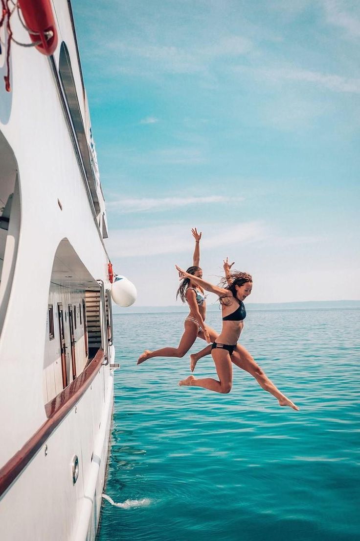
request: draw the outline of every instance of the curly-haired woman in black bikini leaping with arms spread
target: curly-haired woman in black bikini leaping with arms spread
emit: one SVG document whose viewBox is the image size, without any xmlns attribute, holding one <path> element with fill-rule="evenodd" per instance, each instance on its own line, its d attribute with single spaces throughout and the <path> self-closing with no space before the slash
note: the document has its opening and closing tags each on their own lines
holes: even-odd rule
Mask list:
<svg viewBox="0 0 360 541">
<path fill-rule="evenodd" d="M 179 272 L 180 279 L 189 278 L 186 271 L 177 265 L 175 267 Z M 233 362 L 236 366 L 252 374 L 265 391 L 277 398 L 280 406 L 289 406 L 297 411 L 299 408 L 275 387 L 246 349 L 237 344 L 243 328 L 243 320 L 246 318 L 243 300 L 252 292 L 252 277 L 247 273 L 230 273 L 227 269 L 226 278 L 223 280 L 227 283 L 226 287 L 213 286 L 199 276 L 192 276 L 193 283 L 218 295 L 221 302 L 222 329 L 220 335 L 214 340 L 211 351 L 219 380 L 213 378 L 196 379 L 193 375 L 189 375 L 188 378 L 179 381 L 179 385 L 203 387 L 218 393 L 229 393 L 233 381 Z"/>
</svg>

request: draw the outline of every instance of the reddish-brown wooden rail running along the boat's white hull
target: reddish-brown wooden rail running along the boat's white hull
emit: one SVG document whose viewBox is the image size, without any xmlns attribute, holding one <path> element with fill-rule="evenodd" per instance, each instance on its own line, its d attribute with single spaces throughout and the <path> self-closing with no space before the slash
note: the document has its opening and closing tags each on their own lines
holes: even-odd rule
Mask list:
<svg viewBox="0 0 360 541">
<path fill-rule="evenodd" d="M 47 438 L 61 423 L 65 415 L 82 397 L 96 377 L 104 360 L 104 350 L 99 349 L 89 366 L 64 391 L 45 405 L 48 419 L 25 445 L 0 469 L 0 497 L 21 474 Z"/>
</svg>

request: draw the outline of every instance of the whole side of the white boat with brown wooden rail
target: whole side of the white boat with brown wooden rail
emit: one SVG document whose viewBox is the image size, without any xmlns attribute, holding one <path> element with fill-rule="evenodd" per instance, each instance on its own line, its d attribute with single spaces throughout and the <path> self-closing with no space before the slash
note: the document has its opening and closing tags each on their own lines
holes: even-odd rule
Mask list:
<svg viewBox="0 0 360 541">
<path fill-rule="evenodd" d="M 80 530 L 94 538 L 111 424 L 105 203 L 71 10 L 63 0 L 53 6 L 54 55 L 12 44 L 11 95 L 0 88 L 0 182 L 12 198 L 10 218 L 6 206 L 0 216 L 2 539 L 25 539 L 30 531 L 34 539 L 63 541 L 80 539 Z M 12 27 L 19 41 L 29 41 L 15 16 Z M 65 61 L 70 71 L 61 69 Z"/>
</svg>

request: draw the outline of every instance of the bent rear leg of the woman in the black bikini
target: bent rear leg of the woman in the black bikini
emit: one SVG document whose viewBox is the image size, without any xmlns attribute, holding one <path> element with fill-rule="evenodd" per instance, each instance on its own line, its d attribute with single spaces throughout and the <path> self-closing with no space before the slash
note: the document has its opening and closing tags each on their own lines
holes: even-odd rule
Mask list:
<svg viewBox="0 0 360 541">
<path fill-rule="evenodd" d="M 223 349 L 212 350 L 212 356 L 215 362 L 216 373 L 219 380 L 213 378 L 196 379 L 193 375 L 179 381 L 179 385 L 188 385 L 194 387 L 203 387 L 216 393 L 229 393 L 233 382 L 233 366 L 228 351 Z"/>
</svg>

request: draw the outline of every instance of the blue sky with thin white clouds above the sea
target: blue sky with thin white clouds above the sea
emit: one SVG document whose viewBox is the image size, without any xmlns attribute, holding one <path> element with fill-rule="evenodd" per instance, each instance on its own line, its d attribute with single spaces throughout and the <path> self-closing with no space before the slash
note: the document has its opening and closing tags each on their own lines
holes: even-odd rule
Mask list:
<svg viewBox="0 0 360 541">
<path fill-rule="evenodd" d="M 73 2 L 108 252 L 140 306 L 174 263 L 249 301 L 360 299 L 360 4 Z M 215 300 L 215 299 L 213 299 Z"/>
</svg>

